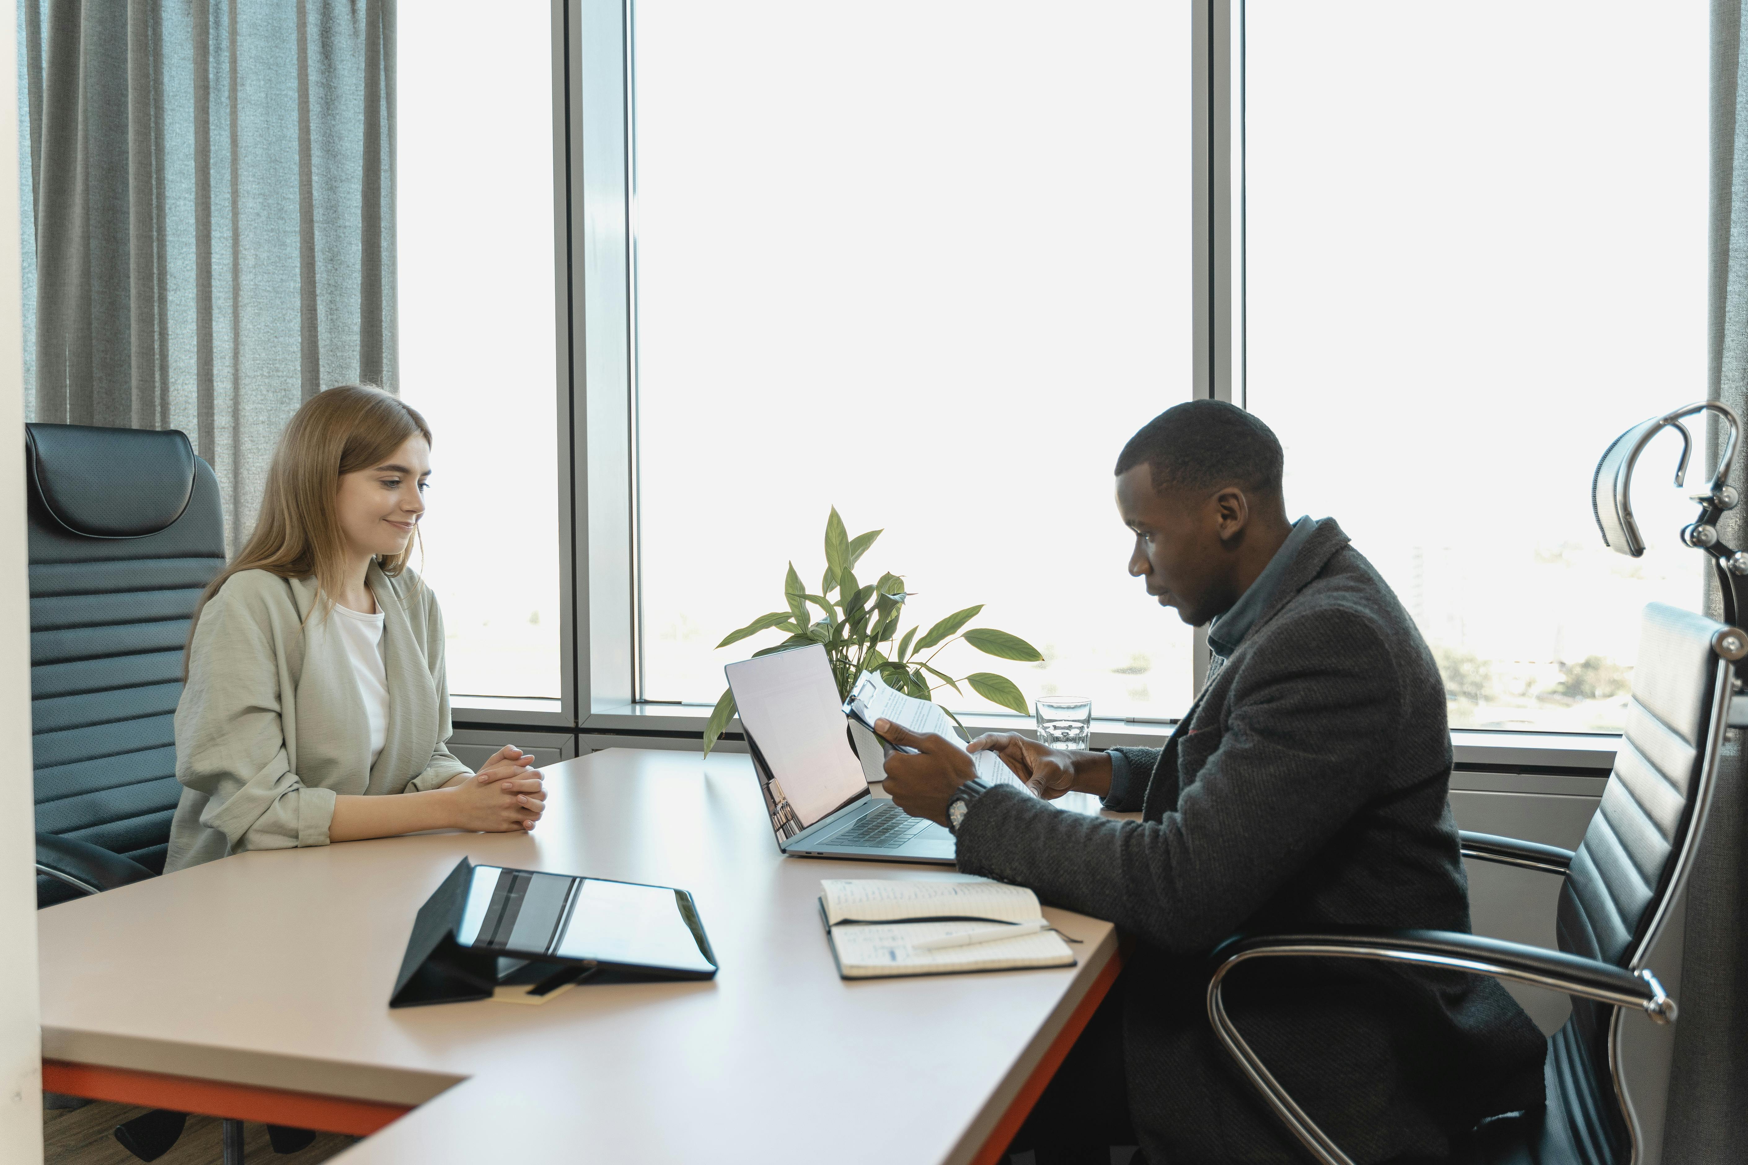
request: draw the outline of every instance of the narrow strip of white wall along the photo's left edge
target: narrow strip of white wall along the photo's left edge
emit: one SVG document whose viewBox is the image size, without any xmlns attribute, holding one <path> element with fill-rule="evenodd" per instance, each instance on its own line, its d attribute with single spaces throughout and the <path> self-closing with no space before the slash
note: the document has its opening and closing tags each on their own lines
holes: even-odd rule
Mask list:
<svg viewBox="0 0 1748 1165">
<path fill-rule="evenodd" d="M 19 335 L 16 7 L 0 2 L 0 1162 L 42 1160 L 30 587 Z"/>
</svg>

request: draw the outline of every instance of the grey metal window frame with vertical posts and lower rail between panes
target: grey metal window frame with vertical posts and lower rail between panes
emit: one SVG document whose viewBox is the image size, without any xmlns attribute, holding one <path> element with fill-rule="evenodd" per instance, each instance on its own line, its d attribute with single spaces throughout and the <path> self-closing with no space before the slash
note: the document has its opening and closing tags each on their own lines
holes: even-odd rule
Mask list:
<svg viewBox="0 0 1748 1165">
<path fill-rule="evenodd" d="M 460 697 L 454 721 L 565 728 L 582 744 L 697 748 L 710 707 L 640 693 L 636 496 L 636 0 L 552 0 L 554 304 L 563 541 L 559 700 Z M 1243 0 L 1192 0 L 1192 386 L 1245 405 Z M 1185 665 L 1208 669 L 1197 629 Z M 1030 718 L 965 716 L 1014 730 Z M 741 751 L 731 723 L 718 748 Z M 1159 746 L 1169 723 L 1096 720 L 1094 748 Z M 1606 774 L 1619 735 L 1453 732 L 1460 769 Z"/>
</svg>

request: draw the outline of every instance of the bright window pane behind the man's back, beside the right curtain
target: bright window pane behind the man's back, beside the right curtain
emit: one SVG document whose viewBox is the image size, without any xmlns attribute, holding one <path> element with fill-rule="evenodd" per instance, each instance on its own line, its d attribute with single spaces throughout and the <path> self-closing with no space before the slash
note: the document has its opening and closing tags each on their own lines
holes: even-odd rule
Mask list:
<svg viewBox="0 0 1748 1165">
<path fill-rule="evenodd" d="M 1643 559 L 1589 487 L 1706 396 L 1706 5 L 1250 0 L 1243 77 L 1245 386 L 1290 512 L 1390 580 L 1453 727 L 1619 730 L 1640 606 L 1703 583 L 1678 440 Z"/>
</svg>

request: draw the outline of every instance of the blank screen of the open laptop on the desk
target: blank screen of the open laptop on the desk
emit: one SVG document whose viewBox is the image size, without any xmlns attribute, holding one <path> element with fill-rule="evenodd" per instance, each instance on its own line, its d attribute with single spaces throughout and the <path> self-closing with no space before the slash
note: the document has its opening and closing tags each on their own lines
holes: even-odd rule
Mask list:
<svg viewBox="0 0 1748 1165">
<path fill-rule="evenodd" d="M 823 646 L 774 651 L 724 671 L 741 725 L 769 769 L 759 781 L 778 838 L 795 837 L 867 793 Z"/>
</svg>

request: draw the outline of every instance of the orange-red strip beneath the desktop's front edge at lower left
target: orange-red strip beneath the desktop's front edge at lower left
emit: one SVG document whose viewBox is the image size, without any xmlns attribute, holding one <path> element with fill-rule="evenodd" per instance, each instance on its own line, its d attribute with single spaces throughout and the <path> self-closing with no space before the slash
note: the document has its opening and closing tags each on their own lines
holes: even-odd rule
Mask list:
<svg viewBox="0 0 1748 1165">
<path fill-rule="evenodd" d="M 42 1086 L 68 1097 L 199 1113 L 201 1116 L 222 1116 L 227 1121 L 343 1132 L 353 1137 L 369 1137 L 378 1128 L 413 1111 L 413 1106 L 407 1104 L 322 1097 L 309 1092 L 255 1088 L 217 1079 L 135 1072 L 124 1067 L 98 1067 L 66 1060 L 42 1062 Z"/>
</svg>

